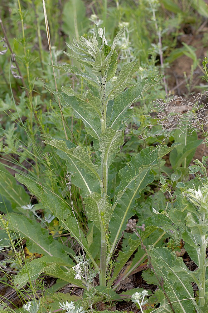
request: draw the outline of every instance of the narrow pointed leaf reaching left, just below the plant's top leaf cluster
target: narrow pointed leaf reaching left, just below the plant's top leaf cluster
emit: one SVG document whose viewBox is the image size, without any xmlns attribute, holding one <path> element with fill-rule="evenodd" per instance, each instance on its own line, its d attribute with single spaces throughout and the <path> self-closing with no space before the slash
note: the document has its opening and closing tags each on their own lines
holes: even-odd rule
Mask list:
<svg viewBox="0 0 208 313">
<path fill-rule="evenodd" d="M 52 66 L 52 65 L 51 65 Z M 94 75 L 91 71 L 91 69 L 87 66 L 85 66 L 85 72 L 81 72 L 76 66 L 73 66 L 71 64 L 65 64 L 65 65 L 53 65 L 55 69 L 61 69 L 63 71 L 66 71 L 68 73 L 75 74 L 76 76 L 82 77 L 84 80 L 89 82 L 94 87 L 99 88 L 99 80 L 97 79 L 97 76 Z"/>
</svg>

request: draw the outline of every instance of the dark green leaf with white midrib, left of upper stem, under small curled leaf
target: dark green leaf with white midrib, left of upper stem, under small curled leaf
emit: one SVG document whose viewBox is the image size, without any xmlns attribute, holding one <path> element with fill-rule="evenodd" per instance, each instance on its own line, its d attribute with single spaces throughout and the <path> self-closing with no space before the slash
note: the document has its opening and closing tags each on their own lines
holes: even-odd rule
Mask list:
<svg viewBox="0 0 208 313">
<path fill-rule="evenodd" d="M 93 138 L 100 140 L 101 127 L 97 127 L 95 124 L 96 118 L 92 114 L 92 106 L 85 102 L 84 106 L 81 106 L 77 97 L 69 97 L 66 94 L 61 96 L 62 106 L 69 107 L 72 110 L 72 114 L 81 119 L 85 125 L 85 129 L 89 135 Z M 96 111 L 94 110 L 97 115 Z"/>
</svg>

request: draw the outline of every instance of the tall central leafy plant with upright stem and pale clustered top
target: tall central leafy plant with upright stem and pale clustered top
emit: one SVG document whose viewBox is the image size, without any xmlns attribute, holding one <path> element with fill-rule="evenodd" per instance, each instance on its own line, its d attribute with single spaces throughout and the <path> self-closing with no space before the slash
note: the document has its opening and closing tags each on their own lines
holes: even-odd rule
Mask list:
<svg viewBox="0 0 208 313">
<path fill-rule="evenodd" d="M 82 261 L 80 258 L 78 260 L 72 249 L 62 246 L 57 240 L 52 241 L 45 231 L 38 230 L 37 223 L 11 213 L 10 223 L 14 228 L 18 225 L 19 233 L 24 233 L 24 237 L 28 238 L 30 249 L 43 254 L 42 258 L 26 264 L 18 273 L 14 280 L 17 288 L 25 285 L 30 275 L 37 279 L 41 273 L 47 273 L 66 283 L 87 289 L 89 294 L 93 283 L 86 280 L 87 273 L 84 273 L 85 262 L 88 261 L 89 266 L 94 269 L 93 273 L 97 272 L 99 275 L 100 285 L 95 287 L 95 292 L 99 296 L 110 298 L 116 295 L 115 290 L 119 285 L 115 284 L 115 280 L 140 245 L 138 238 L 130 238 L 130 248 L 121 251 L 116 261 L 112 259 L 126 230 L 128 219 L 135 215 L 136 200 L 141 197 L 141 191 L 154 180 L 152 167 L 177 144 L 143 149 L 141 153 L 132 156 L 131 162 L 119 173 L 116 172 L 113 163 L 116 162 L 116 154 L 124 143 L 126 122 L 133 115 L 130 107 L 146 90 L 163 79 L 163 75 L 153 76 L 129 87 L 132 77 L 139 70 L 138 63 L 132 61 L 126 63 L 117 74 L 117 79 L 112 81 L 117 70 L 118 54 L 115 48 L 124 32 L 123 27 L 109 46 L 105 29 L 98 29 L 95 25 L 90 37 L 81 37 L 80 41 L 73 38 L 73 43 L 67 44 L 73 53 L 63 51 L 70 59 L 79 62 L 82 70 L 71 64 L 54 66 L 55 69 L 73 73 L 87 82 L 87 90 L 83 94 L 77 94 L 70 86 L 63 86 L 62 92 L 55 92 L 49 86 L 46 88 L 60 99 L 63 107 L 71 110 L 76 119 L 82 120 L 86 133 L 92 137 L 93 147 L 77 146 L 68 140 L 54 139 L 48 135 L 50 140 L 44 142 L 57 148 L 58 156 L 66 161 L 66 183 L 70 180 L 67 187 L 70 195 L 71 184 L 80 189 L 88 218 L 88 229 L 83 229 L 82 220 L 76 216 L 72 201 L 67 203 L 65 199 L 46 190 L 41 183 L 17 174 L 17 180 L 26 185 L 31 194 L 41 200 L 42 206 L 59 220 L 59 225 L 76 239 L 83 254 Z M 93 158 L 86 152 L 88 150 L 94 150 Z M 116 177 L 119 181 L 117 187 Z M 18 223 L 19 219 L 21 223 Z M 162 229 L 172 234 L 173 228 L 166 224 Z M 37 238 L 41 231 L 42 236 Z M 146 237 L 148 236 L 149 233 L 146 232 Z M 131 272 L 125 274 L 131 275 Z"/>
</svg>

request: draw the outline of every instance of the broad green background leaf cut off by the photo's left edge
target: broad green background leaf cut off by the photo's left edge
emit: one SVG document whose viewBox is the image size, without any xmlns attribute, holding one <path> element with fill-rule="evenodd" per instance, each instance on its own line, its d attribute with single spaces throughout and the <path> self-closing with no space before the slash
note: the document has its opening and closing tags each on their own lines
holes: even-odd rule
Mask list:
<svg viewBox="0 0 208 313">
<path fill-rule="evenodd" d="M 16 179 L 0 164 L 0 188 L 1 195 L 12 205 L 12 208 L 21 207 L 30 201 L 30 197 L 24 188 L 17 184 Z M 3 203 L 1 204 L 3 207 Z"/>
</svg>

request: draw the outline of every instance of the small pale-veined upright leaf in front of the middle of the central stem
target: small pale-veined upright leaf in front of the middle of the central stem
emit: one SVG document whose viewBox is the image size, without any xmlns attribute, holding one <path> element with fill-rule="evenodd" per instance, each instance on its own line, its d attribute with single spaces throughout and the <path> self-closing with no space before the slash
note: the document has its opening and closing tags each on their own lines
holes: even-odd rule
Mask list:
<svg viewBox="0 0 208 313">
<path fill-rule="evenodd" d="M 107 169 L 113 163 L 116 154 L 120 151 L 120 146 L 123 145 L 124 132 L 114 131 L 112 128 L 107 128 L 101 134 L 99 151 L 102 153 L 102 160 L 107 165 Z"/>
</svg>

